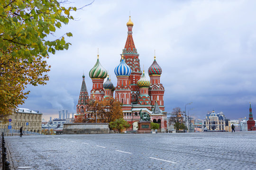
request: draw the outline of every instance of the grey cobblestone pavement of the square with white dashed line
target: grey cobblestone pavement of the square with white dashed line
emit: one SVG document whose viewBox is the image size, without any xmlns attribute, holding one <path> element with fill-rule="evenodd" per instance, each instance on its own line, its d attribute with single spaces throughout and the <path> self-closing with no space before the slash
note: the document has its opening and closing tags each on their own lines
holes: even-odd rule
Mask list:
<svg viewBox="0 0 256 170">
<path fill-rule="evenodd" d="M 256 170 L 256 132 L 6 136 L 6 141 L 12 170 Z"/>
</svg>

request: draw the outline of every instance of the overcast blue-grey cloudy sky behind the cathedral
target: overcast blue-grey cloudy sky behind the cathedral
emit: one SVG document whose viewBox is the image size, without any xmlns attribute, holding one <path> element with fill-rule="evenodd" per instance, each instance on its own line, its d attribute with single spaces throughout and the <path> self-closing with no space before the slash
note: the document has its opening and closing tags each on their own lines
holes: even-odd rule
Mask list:
<svg viewBox="0 0 256 170">
<path fill-rule="evenodd" d="M 91 3 L 71 3 L 77 8 Z M 256 105 L 256 1 L 255 0 L 95 0 L 73 12 L 74 21 L 58 30 L 72 46 L 47 60 L 47 85 L 31 87 L 22 108 L 39 110 L 43 118 L 58 118 L 58 111 L 75 113 L 82 74 L 90 93 L 89 71 L 97 60 L 109 70 L 111 81 L 127 39 L 129 11 L 140 66 L 154 60 L 163 73 L 165 110 L 174 107 L 204 119 L 207 111 L 222 111 L 229 119 L 248 117 Z"/>
</svg>

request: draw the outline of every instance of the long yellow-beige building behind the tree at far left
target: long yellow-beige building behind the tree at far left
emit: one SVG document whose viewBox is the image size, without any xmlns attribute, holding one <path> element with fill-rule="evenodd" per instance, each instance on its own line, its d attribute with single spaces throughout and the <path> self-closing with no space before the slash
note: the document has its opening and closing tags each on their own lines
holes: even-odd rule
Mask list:
<svg viewBox="0 0 256 170">
<path fill-rule="evenodd" d="M 11 122 L 0 124 L 0 128 L 19 130 L 23 126 L 24 131 L 41 133 L 42 113 L 26 108 L 18 108 L 8 116 Z"/>
</svg>

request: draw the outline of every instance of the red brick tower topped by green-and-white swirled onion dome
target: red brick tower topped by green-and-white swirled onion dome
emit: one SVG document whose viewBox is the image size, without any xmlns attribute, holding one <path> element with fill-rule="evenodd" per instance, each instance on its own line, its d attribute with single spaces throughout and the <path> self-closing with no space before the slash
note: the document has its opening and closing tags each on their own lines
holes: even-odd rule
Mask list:
<svg viewBox="0 0 256 170">
<path fill-rule="evenodd" d="M 92 81 L 91 98 L 101 101 L 105 95 L 103 89 L 104 79 L 107 77 L 108 72 L 101 66 L 99 61 L 99 54 L 96 64 L 91 68 L 89 76 Z"/>
</svg>

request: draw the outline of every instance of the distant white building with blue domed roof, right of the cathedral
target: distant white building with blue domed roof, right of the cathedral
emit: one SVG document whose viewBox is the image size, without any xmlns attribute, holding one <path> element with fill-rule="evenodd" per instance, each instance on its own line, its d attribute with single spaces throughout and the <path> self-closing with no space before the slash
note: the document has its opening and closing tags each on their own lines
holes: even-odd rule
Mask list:
<svg viewBox="0 0 256 170">
<path fill-rule="evenodd" d="M 224 114 L 222 112 L 216 114 L 214 110 L 212 110 L 211 113 L 207 113 L 204 127 L 206 127 L 208 131 L 225 131 Z"/>
</svg>

